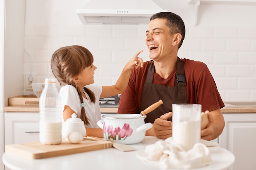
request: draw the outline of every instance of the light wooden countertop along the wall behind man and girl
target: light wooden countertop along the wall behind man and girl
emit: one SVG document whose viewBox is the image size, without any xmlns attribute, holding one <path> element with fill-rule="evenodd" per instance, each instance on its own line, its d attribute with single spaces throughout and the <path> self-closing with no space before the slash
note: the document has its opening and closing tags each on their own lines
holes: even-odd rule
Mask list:
<svg viewBox="0 0 256 170">
<path fill-rule="evenodd" d="M 243 105 L 225 104 L 220 110 L 222 113 L 256 113 L 255 102 L 243 102 Z M 253 105 L 252 105 L 253 104 Z M 117 107 L 101 107 L 101 113 L 117 113 Z M 39 112 L 38 106 L 7 106 L 4 107 L 4 112 Z"/>
</svg>

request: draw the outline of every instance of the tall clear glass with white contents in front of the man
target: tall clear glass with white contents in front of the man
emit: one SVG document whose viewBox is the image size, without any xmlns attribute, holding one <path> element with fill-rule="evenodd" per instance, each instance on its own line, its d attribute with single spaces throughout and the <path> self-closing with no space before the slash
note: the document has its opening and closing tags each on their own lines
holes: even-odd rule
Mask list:
<svg viewBox="0 0 256 170">
<path fill-rule="evenodd" d="M 173 141 L 185 151 L 201 139 L 201 105 L 172 104 Z"/>
</svg>

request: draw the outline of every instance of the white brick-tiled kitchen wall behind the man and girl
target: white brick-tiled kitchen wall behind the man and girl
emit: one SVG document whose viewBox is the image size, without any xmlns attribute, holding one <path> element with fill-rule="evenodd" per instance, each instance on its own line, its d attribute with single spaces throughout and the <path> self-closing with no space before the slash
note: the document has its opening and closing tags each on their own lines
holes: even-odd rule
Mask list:
<svg viewBox="0 0 256 170">
<path fill-rule="evenodd" d="M 187 0 L 153 1 L 183 18 L 186 36 L 178 55 L 207 64 L 224 101 L 256 101 L 256 5 L 203 4 L 198 25 L 194 25 L 194 8 Z M 149 59 L 147 24 L 81 24 L 76 8 L 86 2 L 26 0 L 25 50 L 29 55 L 24 53 L 24 74 L 36 73 L 37 82 L 52 77 L 52 53 L 74 44 L 85 46 L 94 55 L 94 79 L 99 85 L 115 84 L 136 51 L 143 49 L 140 56 Z"/>
</svg>

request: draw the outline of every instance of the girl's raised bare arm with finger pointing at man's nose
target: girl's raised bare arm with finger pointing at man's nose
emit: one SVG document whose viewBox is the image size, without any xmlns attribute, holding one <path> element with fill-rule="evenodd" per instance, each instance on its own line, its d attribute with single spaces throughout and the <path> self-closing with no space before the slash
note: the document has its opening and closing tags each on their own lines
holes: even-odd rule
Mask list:
<svg viewBox="0 0 256 170">
<path fill-rule="evenodd" d="M 132 59 L 124 66 L 124 69 L 117 80 L 115 85 L 112 86 L 103 86 L 102 92 L 100 97 L 110 97 L 114 95 L 118 95 L 120 93 L 123 93 L 128 85 L 130 73 L 132 71 L 132 68 L 139 68 L 143 67 L 143 60 L 138 57 L 138 55 L 142 52 L 138 51 L 135 53 L 135 55 L 132 57 Z"/>
</svg>

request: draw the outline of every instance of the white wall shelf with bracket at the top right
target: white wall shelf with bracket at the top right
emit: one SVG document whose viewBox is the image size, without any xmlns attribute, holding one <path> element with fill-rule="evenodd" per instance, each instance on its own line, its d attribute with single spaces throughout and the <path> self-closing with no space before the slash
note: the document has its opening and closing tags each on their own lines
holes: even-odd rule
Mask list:
<svg viewBox="0 0 256 170">
<path fill-rule="evenodd" d="M 190 0 L 189 4 L 194 4 L 194 22 L 197 25 L 200 4 L 256 5 L 256 0 Z"/>
</svg>

